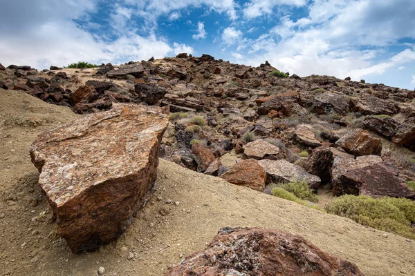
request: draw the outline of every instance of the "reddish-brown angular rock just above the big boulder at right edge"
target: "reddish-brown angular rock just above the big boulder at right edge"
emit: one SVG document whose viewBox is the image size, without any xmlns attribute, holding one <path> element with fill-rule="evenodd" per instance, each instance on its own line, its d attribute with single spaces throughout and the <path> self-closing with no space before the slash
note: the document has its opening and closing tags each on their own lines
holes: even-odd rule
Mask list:
<svg viewBox="0 0 415 276">
<path fill-rule="evenodd" d="M 382 152 L 382 141 L 371 135 L 367 130 L 357 128 L 350 130 L 335 142 L 352 155 L 380 155 Z"/>
</svg>

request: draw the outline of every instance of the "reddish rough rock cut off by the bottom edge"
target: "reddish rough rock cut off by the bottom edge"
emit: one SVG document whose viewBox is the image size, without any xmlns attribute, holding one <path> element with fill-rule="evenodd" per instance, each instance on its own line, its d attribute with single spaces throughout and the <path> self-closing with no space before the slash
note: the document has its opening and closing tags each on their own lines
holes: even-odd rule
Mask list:
<svg viewBox="0 0 415 276">
<path fill-rule="evenodd" d="M 185 257 L 167 276 L 363 275 L 306 239 L 279 230 L 222 228 L 208 248 Z"/>
</svg>

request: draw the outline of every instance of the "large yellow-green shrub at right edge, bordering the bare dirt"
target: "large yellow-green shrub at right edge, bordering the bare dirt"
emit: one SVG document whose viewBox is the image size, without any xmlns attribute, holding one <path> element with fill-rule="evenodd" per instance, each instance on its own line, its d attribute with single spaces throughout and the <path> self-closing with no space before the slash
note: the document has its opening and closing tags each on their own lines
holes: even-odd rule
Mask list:
<svg viewBox="0 0 415 276">
<path fill-rule="evenodd" d="M 415 203 L 410 199 L 367 195 L 343 195 L 326 205 L 333 215 L 348 217 L 359 224 L 415 239 Z"/>
</svg>

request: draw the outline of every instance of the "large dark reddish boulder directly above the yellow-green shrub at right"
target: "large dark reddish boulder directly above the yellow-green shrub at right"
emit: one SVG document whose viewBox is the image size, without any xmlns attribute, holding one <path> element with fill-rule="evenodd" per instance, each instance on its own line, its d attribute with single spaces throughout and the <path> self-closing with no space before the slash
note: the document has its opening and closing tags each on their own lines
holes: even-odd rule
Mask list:
<svg viewBox="0 0 415 276">
<path fill-rule="evenodd" d="M 408 197 L 415 193 L 398 177 L 398 172 L 376 155 L 357 159 L 335 157 L 333 195 L 369 195 L 371 197 Z"/>
</svg>

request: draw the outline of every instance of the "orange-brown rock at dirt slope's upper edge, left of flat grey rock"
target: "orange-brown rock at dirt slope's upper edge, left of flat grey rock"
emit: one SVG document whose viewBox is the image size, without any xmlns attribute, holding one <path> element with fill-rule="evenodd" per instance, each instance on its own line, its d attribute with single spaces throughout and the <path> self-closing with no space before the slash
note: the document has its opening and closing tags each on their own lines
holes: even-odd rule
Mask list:
<svg viewBox="0 0 415 276">
<path fill-rule="evenodd" d="M 265 188 L 266 172 L 256 160 L 245 159 L 232 166 L 221 175 L 221 178 L 232 184 L 261 192 Z"/>
</svg>

